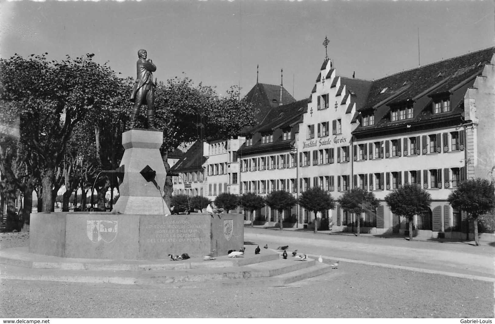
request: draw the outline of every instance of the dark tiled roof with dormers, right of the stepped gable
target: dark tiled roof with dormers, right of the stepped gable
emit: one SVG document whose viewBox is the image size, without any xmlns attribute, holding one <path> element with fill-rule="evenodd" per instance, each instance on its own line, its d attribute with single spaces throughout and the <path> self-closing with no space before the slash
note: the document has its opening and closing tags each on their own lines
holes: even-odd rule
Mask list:
<svg viewBox="0 0 495 324">
<path fill-rule="evenodd" d="M 358 105 L 357 110 L 361 113 L 374 111 L 375 125 L 358 126 L 353 133 L 460 116 L 465 90 L 473 85 L 494 53 L 495 47 L 490 47 L 373 81 L 365 103 Z M 451 111 L 433 115 L 432 98 L 446 93 L 450 93 Z M 414 103 L 414 118 L 390 122 L 391 106 L 405 105 L 407 101 Z"/>
</svg>

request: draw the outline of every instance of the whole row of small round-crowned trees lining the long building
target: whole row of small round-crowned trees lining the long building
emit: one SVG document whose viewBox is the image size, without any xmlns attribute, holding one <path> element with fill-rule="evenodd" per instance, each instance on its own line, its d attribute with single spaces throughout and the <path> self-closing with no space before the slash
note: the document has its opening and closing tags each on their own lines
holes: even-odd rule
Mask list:
<svg viewBox="0 0 495 324">
<path fill-rule="evenodd" d="M 470 179 L 463 181 L 450 193 L 447 198 L 452 208 L 465 211 L 469 220 L 474 223 L 475 244 L 479 245 L 478 217 L 491 212 L 495 208 L 495 182 L 486 179 Z M 192 197 L 191 204 L 194 208 L 203 209 L 210 203 L 205 197 Z M 201 201 L 201 202 L 199 202 Z M 403 216 L 409 223 L 409 240 L 413 238 L 413 218 L 430 209 L 432 198 L 430 193 L 420 185 L 405 184 L 392 191 L 385 197 L 385 202 L 392 213 Z M 214 201 L 215 206 L 224 209 L 226 212 L 242 207 L 251 214 L 265 206 L 275 209 L 281 214 L 284 210 L 290 210 L 296 204 L 314 213 L 315 219 L 318 212 L 334 209 L 338 203 L 343 210 L 357 215 L 357 235 L 360 234 L 360 216 L 362 213 L 376 213 L 380 202 L 371 191 L 361 188 L 353 188 L 346 191 L 338 199 L 321 189 L 311 187 L 302 192 L 298 199 L 285 190 L 275 190 L 263 197 L 261 195 L 248 192 L 241 196 L 231 193 L 222 193 Z M 280 229 L 283 229 L 282 217 L 279 217 Z M 251 222 L 251 226 L 254 219 Z M 315 222 L 314 231 L 317 232 Z"/>
</svg>

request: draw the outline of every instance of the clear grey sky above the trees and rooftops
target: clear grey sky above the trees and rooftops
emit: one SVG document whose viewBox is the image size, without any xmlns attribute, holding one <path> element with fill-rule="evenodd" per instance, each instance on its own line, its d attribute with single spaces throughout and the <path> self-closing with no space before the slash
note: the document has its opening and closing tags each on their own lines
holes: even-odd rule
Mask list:
<svg viewBox="0 0 495 324">
<path fill-rule="evenodd" d="M 387 75 L 495 45 L 494 0 L 0 0 L 0 55 L 95 53 L 136 77 L 145 48 L 158 80 L 186 73 L 195 83 L 259 82 L 308 97 L 328 55 L 337 74 Z"/>
</svg>

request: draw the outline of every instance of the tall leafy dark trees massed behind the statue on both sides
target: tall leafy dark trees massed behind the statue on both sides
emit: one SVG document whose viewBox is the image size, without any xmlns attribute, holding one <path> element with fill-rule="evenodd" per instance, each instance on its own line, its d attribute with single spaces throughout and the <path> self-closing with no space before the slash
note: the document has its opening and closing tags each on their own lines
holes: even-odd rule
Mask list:
<svg viewBox="0 0 495 324">
<path fill-rule="evenodd" d="M 68 211 L 73 193 L 82 191 L 78 202 L 85 208 L 86 194 L 94 187 L 97 209 L 104 210 L 105 193 L 117 186 L 115 178 L 101 171 L 120 164 L 134 82 L 93 57 L 67 55 L 56 61 L 44 53 L 0 59 L 0 217 L 6 209 L 7 223 L 18 218 L 29 222 L 33 191 L 38 211 L 49 212 L 64 186 L 62 209 Z M 167 171 L 168 152 L 180 144 L 229 138 L 252 126 L 257 113 L 239 100 L 235 87 L 221 96 L 187 77 L 159 81 L 154 106 L 155 127 L 163 130 L 160 151 Z M 142 128 L 144 122 L 140 117 L 135 126 Z M 24 204 L 16 210 L 19 195 Z M 167 177 L 167 203 L 171 195 L 172 181 Z"/>
</svg>

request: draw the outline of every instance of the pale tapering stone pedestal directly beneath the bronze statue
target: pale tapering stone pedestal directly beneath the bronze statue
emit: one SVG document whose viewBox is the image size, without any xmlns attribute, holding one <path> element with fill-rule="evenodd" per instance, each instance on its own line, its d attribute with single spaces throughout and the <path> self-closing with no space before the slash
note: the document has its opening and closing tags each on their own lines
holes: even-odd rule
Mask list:
<svg viewBox="0 0 495 324">
<path fill-rule="evenodd" d="M 170 210 L 163 200 L 167 173 L 160 154 L 163 143 L 161 131 L 132 129 L 122 134 L 125 148 L 120 166 L 124 178 L 119 185 L 120 197 L 112 212 L 138 215 L 168 215 Z M 148 181 L 142 171 L 149 168 L 156 173 Z"/>
</svg>

